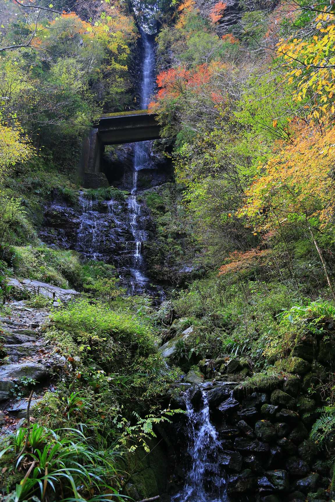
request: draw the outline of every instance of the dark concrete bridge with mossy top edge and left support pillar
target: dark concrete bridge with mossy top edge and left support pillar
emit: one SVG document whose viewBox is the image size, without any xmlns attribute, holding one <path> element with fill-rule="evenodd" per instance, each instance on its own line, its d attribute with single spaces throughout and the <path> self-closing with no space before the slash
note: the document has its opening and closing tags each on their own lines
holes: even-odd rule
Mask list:
<svg viewBox="0 0 335 502">
<path fill-rule="evenodd" d="M 157 140 L 160 126 L 157 115 L 148 110 L 106 113 L 97 127 L 85 138 L 81 154 L 81 177 L 100 173 L 100 159 L 105 145 L 120 145 L 137 141 Z"/>
</svg>

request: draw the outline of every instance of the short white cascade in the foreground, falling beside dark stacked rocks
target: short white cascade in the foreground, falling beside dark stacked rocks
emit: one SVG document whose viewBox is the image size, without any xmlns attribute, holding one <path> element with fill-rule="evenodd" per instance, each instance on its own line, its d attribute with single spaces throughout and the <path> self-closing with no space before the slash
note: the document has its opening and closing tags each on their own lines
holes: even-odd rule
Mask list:
<svg viewBox="0 0 335 502">
<path fill-rule="evenodd" d="M 217 431 L 210 422 L 206 392 L 201 389 L 202 409 L 195 411 L 191 392 L 185 394 L 187 412 L 187 471 L 183 489 L 173 496 L 173 502 L 225 502 L 226 479 L 219 471 L 221 450 Z"/>
</svg>

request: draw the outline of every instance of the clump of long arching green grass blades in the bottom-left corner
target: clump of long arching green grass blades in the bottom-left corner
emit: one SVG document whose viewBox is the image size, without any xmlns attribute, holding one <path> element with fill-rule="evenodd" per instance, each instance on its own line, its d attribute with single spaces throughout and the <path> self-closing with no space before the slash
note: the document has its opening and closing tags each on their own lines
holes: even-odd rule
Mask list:
<svg viewBox="0 0 335 502">
<path fill-rule="evenodd" d="M 75 429 L 47 429 L 39 424 L 20 427 L 5 440 L 0 456 L 12 466 L 5 474 L 7 500 L 115 499 L 120 483 L 116 470 L 117 450 L 98 449 L 91 438 Z M 27 466 L 30 466 L 28 469 Z M 3 473 L 6 472 L 3 470 Z M 21 482 L 17 478 L 21 478 Z M 108 494 L 106 494 L 108 493 Z"/>
</svg>

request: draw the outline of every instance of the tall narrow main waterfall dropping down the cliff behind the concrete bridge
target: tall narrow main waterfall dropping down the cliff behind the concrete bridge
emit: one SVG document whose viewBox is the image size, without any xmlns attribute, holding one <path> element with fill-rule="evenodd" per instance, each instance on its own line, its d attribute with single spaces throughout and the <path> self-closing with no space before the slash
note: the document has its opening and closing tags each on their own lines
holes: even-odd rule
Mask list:
<svg viewBox="0 0 335 502">
<path fill-rule="evenodd" d="M 154 63 L 155 54 L 153 43 L 150 36 L 142 31 L 141 38 L 144 50 L 144 62 L 141 80 L 141 108 L 148 107 L 150 96 L 153 90 L 154 83 Z M 131 187 L 131 195 L 128 200 L 129 217 L 131 231 L 134 237 L 134 253 L 133 253 L 133 267 L 131 273 L 133 276 L 132 289 L 135 290 L 137 286 L 145 287 L 149 284 L 149 278 L 143 272 L 143 257 L 142 257 L 142 243 L 147 240 L 147 232 L 141 228 L 141 204 L 137 201 L 137 180 L 138 172 L 142 169 L 148 168 L 150 160 L 150 149 L 152 146 L 151 141 L 143 141 L 135 143 L 133 146 L 134 163 L 133 163 L 133 180 Z"/>
</svg>

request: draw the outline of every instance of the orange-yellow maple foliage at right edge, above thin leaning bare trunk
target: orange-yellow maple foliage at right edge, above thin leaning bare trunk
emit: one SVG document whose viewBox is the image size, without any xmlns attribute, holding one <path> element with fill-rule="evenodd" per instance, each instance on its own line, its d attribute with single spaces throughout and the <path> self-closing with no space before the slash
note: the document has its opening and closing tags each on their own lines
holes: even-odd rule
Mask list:
<svg viewBox="0 0 335 502">
<path fill-rule="evenodd" d="M 271 228 L 298 219 L 317 218 L 324 227 L 334 217 L 335 128 L 322 133 L 304 123 L 287 145 L 276 144 L 276 154 L 247 190 L 247 200 L 238 215 Z"/>
</svg>

